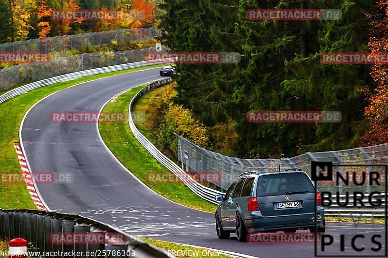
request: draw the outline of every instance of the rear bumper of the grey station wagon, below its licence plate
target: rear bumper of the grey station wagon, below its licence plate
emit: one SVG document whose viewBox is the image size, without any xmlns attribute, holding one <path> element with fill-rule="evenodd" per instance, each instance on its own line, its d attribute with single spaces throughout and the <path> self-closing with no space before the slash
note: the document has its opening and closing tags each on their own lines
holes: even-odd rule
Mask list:
<svg viewBox="0 0 388 258">
<path fill-rule="evenodd" d="M 258 212 L 259 213 L 259 212 Z M 323 227 L 324 210 L 317 211 L 317 226 Z M 282 231 L 281 229 L 298 229 L 314 227 L 314 212 L 296 215 L 267 216 L 261 214 L 245 216 L 248 232 Z"/>
</svg>

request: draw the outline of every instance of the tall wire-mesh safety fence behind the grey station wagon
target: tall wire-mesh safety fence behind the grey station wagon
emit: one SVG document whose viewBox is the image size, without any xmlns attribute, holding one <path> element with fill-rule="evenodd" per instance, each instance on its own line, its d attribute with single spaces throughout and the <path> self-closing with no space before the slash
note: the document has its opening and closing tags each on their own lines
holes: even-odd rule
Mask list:
<svg viewBox="0 0 388 258">
<path fill-rule="evenodd" d="M 188 171 L 220 172 L 221 180 L 215 184 L 223 190 L 226 190 L 243 172 L 277 171 L 280 163 L 280 159 L 275 158 L 240 159 L 229 157 L 201 148 L 181 136 L 178 136 L 178 161 L 182 162 Z M 298 167 L 311 174 L 311 161 L 331 161 L 334 165 L 387 164 L 388 143 L 341 151 L 307 152 L 299 156 L 283 158 L 281 169 Z"/>
</svg>

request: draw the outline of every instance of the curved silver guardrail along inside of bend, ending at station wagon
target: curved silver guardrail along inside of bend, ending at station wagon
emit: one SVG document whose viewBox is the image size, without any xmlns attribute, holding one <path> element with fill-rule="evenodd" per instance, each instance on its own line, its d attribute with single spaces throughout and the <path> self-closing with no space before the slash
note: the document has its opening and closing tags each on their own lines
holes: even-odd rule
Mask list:
<svg viewBox="0 0 388 258">
<path fill-rule="evenodd" d="M 214 200 L 216 195 L 225 194 L 217 190 L 213 190 L 209 187 L 206 187 L 198 182 L 196 182 L 192 177 L 190 177 L 182 168 L 177 164 L 167 158 L 162 152 L 160 152 L 140 131 L 136 128 L 135 123 L 132 120 L 131 108 L 136 103 L 136 101 L 143 96 L 145 93 L 152 91 L 156 88 L 161 87 L 162 85 L 171 83 L 172 79 L 170 77 L 163 78 L 148 84 L 141 91 L 139 91 L 131 100 L 129 104 L 129 127 L 136 137 L 136 139 L 146 148 L 146 150 L 151 153 L 151 155 L 156 158 L 164 167 L 167 167 L 168 170 L 173 172 L 184 184 L 189 187 L 196 195 L 199 197 L 214 203 L 218 204 L 219 201 Z"/>
</svg>

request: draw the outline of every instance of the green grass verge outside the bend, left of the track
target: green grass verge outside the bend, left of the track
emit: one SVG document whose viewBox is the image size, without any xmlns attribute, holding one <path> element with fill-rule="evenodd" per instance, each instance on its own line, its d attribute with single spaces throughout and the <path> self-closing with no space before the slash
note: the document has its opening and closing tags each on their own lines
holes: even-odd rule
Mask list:
<svg viewBox="0 0 388 258">
<path fill-rule="evenodd" d="M 32 105 L 55 91 L 81 82 L 160 66 L 162 65 L 132 68 L 56 83 L 32 90 L 0 104 L 0 208 L 36 210 L 36 206 L 33 204 L 24 182 L 7 183 L 1 177 L 11 173 L 21 173 L 13 142 L 19 141 L 20 123 L 24 114 Z"/>
</svg>

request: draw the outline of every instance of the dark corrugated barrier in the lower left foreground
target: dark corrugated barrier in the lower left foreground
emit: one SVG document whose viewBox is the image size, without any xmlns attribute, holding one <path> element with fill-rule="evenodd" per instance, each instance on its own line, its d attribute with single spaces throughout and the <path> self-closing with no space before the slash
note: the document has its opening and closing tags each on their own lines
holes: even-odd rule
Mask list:
<svg viewBox="0 0 388 258">
<path fill-rule="evenodd" d="M 124 241 L 120 243 L 52 243 L 52 233 L 107 233 L 119 235 Z M 160 248 L 145 243 L 127 233 L 114 229 L 112 226 L 79 215 L 58 212 L 42 212 L 33 210 L 2 210 L 0 209 L 0 237 L 3 239 L 23 238 L 31 242 L 38 252 L 83 252 L 99 253 L 93 257 L 173 257 Z M 87 241 L 87 240 L 86 240 Z M 114 252 L 113 252 L 114 250 Z M 35 250 L 34 250 L 35 251 Z M 120 256 L 117 255 L 120 252 Z M 113 255 L 113 254 L 116 255 Z M 58 254 L 58 253 L 57 253 Z M 106 255 L 104 255 L 106 254 Z M 121 255 L 121 254 L 131 254 Z M 63 255 L 63 253 L 62 253 Z M 55 256 L 73 257 L 73 256 Z M 87 256 L 74 256 L 87 257 Z M 92 256 L 88 256 L 92 257 Z"/>
</svg>

